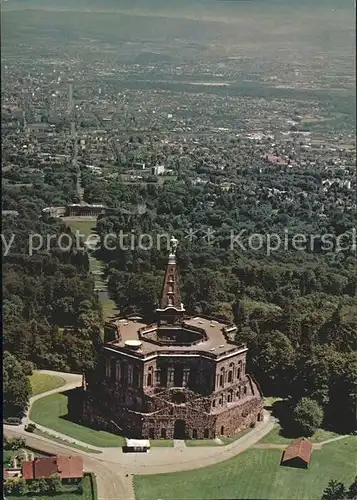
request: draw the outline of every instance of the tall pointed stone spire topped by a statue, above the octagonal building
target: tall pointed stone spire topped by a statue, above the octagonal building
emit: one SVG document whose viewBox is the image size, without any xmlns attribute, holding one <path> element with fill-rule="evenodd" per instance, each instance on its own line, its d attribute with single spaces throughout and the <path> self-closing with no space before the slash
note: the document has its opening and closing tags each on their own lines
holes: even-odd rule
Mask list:
<svg viewBox="0 0 357 500">
<path fill-rule="evenodd" d="M 158 322 L 178 323 L 185 312 L 181 303 L 179 275 L 176 263 L 178 240 L 173 236 L 170 240 L 170 254 L 162 284 L 159 307 L 156 310 Z"/>
</svg>

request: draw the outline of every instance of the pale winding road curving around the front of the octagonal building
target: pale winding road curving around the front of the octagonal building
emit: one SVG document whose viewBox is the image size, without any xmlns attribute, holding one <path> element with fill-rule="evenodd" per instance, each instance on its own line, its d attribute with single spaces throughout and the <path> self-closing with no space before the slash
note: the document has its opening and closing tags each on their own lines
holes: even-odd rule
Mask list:
<svg viewBox="0 0 357 500">
<path fill-rule="evenodd" d="M 274 426 L 274 419 L 269 412 L 265 412 L 264 420 L 240 439 L 226 446 L 197 446 L 197 447 L 152 447 L 149 453 L 123 453 L 122 448 L 98 448 L 88 445 L 68 436 L 60 434 L 43 426 L 41 430 L 63 440 L 51 441 L 39 435 L 25 431 L 25 425 L 30 421 L 29 414 L 32 404 L 45 396 L 74 389 L 81 386 L 80 375 L 62 372 L 41 370 L 40 373 L 57 375 L 66 381 L 66 384 L 57 389 L 38 394 L 30 399 L 29 409 L 21 425 L 4 425 L 4 433 L 9 437 L 23 437 L 28 446 L 53 454 L 81 455 L 84 468 L 96 476 L 99 500 L 135 500 L 132 477 L 134 474 L 161 474 L 165 472 L 179 472 L 213 465 L 232 458 L 246 449 L 254 446 Z M 68 441 L 68 444 L 66 443 Z M 88 453 L 71 447 L 71 443 L 97 450 L 100 453 Z"/>
</svg>

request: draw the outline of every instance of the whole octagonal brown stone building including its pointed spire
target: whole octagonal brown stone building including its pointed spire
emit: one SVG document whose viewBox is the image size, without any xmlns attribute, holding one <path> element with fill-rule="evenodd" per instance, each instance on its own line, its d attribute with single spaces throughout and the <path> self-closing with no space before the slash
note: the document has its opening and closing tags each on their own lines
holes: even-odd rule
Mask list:
<svg viewBox="0 0 357 500">
<path fill-rule="evenodd" d="M 231 340 L 236 327 L 185 314 L 176 246 L 173 238 L 157 322 L 131 317 L 106 325 L 100 362 L 70 402 L 82 421 L 127 437 L 204 439 L 262 420 L 247 347 Z"/>
</svg>

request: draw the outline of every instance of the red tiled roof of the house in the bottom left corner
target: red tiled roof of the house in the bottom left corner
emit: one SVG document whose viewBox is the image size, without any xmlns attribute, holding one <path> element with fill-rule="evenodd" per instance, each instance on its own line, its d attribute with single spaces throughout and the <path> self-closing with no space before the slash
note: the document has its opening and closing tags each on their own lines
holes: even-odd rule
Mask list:
<svg viewBox="0 0 357 500">
<path fill-rule="evenodd" d="M 24 479 L 48 478 L 59 474 L 61 479 L 83 477 L 82 457 L 37 458 L 22 464 Z"/>
</svg>

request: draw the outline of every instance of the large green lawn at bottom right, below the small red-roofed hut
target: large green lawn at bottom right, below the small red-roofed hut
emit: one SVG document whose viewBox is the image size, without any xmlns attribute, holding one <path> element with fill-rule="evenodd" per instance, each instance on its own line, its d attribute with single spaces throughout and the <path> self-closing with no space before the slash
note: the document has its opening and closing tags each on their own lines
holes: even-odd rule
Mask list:
<svg viewBox="0 0 357 500">
<path fill-rule="evenodd" d="M 217 465 L 191 471 L 135 476 L 136 500 L 316 500 L 331 478 L 356 476 L 357 437 L 314 450 L 307 470 L 281 467 L 281 450 L 250 449 Z"/>
</svg>

